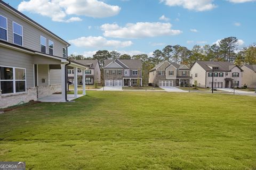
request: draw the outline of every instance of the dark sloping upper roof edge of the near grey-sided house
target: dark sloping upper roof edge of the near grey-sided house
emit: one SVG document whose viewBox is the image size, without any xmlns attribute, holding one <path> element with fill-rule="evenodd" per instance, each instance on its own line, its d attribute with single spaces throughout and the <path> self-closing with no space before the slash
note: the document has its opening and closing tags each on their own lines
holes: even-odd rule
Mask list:
<svg viewBox="0 0 256 170">
<path fill-rule="evenodd" d="M 13 8 L 12 6 L 10 6 L 9 4 L 3 2 L 2 0 L 0 1 L 0 5 L 3 5 L 5 8 L 8 8 L 9 10 L 13 11 L 14 13 L 20 15 L 22 18 L 24 18 L 25 20 L 29 21 L 30 23 L 33 23 L 36 27 L 39 27 L 41 29 L 43 29 L 45 32 L 49 33 L 50 35 L 52 35 L 53 37 L 59 39 L 60 41 L 62 41 L 63 43 L 67 44 L 68 46 L 70 46 L 70 44 L 63 40 L 62 38 L 60 38 L 59 36 L 55 35 L 53 32 L 51 32 L 50 30 L 44 28 L 41 24 L 35 22 L 34 20 L 30 19 L 28 16 L 26 16 L 25 14 L 22 14 L 21 12 L 19 12 L 18 10 L 16 10 L 15 8 Z"/>
</svg>

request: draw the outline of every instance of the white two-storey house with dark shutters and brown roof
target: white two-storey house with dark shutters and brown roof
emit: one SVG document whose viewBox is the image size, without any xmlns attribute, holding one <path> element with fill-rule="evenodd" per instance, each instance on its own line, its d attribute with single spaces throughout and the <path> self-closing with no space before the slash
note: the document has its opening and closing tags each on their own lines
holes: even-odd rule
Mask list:
<svg viewBox="0 0 256 170">
<path fill-rule="evenodd" d="M 233 88 L 242 87 L 242 72 L 239 66 L 230 62 L 197 61 L 192 65 L 190 75 L 192 83 L 196 80 L 199 87 L 211 88 L 213 76 L 213 88 Z"/>
</svg>

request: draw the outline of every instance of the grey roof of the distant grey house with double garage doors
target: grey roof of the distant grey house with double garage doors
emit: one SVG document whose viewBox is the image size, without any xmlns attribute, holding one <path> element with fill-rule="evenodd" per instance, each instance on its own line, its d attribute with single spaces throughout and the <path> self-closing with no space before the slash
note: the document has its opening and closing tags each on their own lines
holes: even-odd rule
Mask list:
<svg viewBox="0 0 256 170">
<path fill-rule="evenodd" d="M 106 60 L 104 67 L 109 65 L 111 62 L 116 62 L 118 65 L 122 66 L 124 69 L 142 69 L 141 60 L 117 60 L 117 59 Z"/>
</svg>

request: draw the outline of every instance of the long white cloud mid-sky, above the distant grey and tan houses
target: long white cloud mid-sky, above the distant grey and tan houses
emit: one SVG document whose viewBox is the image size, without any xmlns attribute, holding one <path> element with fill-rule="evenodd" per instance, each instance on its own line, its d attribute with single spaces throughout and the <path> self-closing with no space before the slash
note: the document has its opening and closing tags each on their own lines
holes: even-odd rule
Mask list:
<svg viewBox="0 0 256 170">
<path fill-rule="evenodd" d="M 180 30 L 171 29 L 171 23 L 161 22 L 137 22 L 127 23 L 125 27 L 120 27 L 118 24 L 103 24 L 101 30 L 104 31 L 105 37 L 115 38 L 143 38 L 157 36 L 171 36 L 182 33 Z"/>
</svg>

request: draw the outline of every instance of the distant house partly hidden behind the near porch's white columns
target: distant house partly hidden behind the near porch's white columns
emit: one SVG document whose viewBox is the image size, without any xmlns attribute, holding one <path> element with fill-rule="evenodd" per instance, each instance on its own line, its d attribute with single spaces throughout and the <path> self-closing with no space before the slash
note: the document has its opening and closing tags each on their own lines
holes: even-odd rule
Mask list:
<svg viewBox="0 0 256 170">
<path fill-rule="evenodd" d="M 75 60 L 75 62 L 86 65 L 89 67 L 89 69 L 85 70 L 85 84 L 94 84 L 100 83 L 100 63 L 98 60 Z M 82 70 L 78 70 L 78 80 L 81 80 L 81 82 L 78 82 L 79 84 L 82 84 Z M 74 81 L 74 70 L 69 69 L 68 70 L 68 81 L 72 82 Z"/>
</svg>

